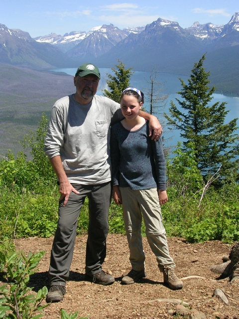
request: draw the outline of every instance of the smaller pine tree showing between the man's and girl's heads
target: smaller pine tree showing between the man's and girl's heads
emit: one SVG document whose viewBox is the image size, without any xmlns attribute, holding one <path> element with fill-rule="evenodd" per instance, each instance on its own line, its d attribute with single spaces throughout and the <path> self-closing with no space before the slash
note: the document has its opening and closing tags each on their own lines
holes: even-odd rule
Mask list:
<svg viewBox="0 0 239 319">
<path fill-rule="evenodd" d="M 111 68 L 115 75 L 107 73 L 107 85 L 111 91 L 104 90 L 103 95 L 120 103 L 120 96 L 122 91 L 129 87 L 130 77 L 133 74 L 132 68 L 125 69 L 125 64 L 118 60 L 119 64 L 115 65 L 116 68 Z"/>
</svg>

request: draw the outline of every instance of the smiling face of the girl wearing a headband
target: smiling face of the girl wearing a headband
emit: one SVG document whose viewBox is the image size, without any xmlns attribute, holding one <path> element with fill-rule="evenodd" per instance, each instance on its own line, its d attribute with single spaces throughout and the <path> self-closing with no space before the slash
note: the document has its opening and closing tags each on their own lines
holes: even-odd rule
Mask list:
<svg viewBox="0 0 239 319">
<path fill-rule="evenodd" d="M 120 106 L 125 119 L 133 120 L 138 116 L 138 113 L 142 108 L 142 102 L 138 103 L 135 96 L 125 94 L 121 99 Z"/>
</svg>

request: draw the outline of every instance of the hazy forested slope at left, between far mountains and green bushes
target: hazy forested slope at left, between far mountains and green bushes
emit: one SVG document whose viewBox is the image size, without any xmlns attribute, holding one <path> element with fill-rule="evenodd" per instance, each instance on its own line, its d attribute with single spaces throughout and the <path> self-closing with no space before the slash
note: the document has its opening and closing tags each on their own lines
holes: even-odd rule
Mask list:
<svg viewBox="0 0 239 319">
<path fill-rule="evenodd" d="M 14 155 L 21 151 L 18 142 L 36 130 L 42 113 L 49 118 L 55 101 L 71 93 L 69 75 L 0 64 L 0 154 L 6 155 L 9 144 Z"/>
</svg>

